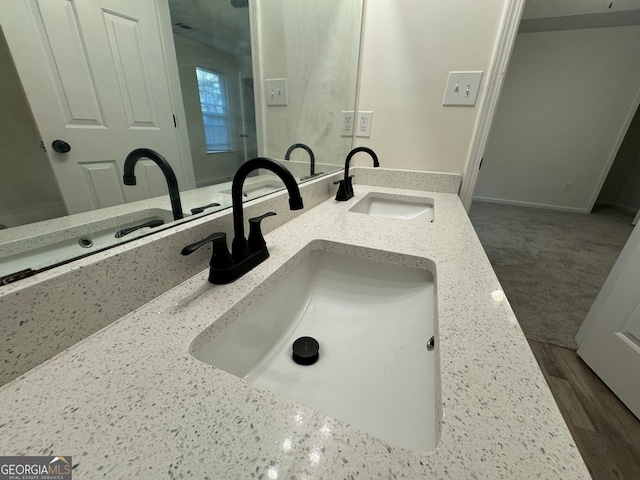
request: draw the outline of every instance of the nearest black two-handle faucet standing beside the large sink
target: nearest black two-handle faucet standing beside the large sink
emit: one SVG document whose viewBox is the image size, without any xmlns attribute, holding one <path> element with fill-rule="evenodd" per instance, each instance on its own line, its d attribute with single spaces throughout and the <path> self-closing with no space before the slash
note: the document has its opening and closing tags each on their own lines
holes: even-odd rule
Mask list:
<svg viewBox="0 0 640 480">
<path fill-rule="evenodd" d="M 298 188 L 296 179 L 293 178 L 291 172 L 280 162 L 276 162 L 270 158 L 258 157 L 240 166 L 231 184 L 234 229 L 231 252 L 229 252 L 227 248 L 227 235 L 224 232 L 214 233 L 199 242 L 187 245 L 181 252 L 182 255 L 190 255 L 205 243 L 212 242 L 213 248 L 211 261 L 209 262 L 209 282 L 216 285 L 231 283 L 237 280 L 269 258 L 269 251 L 262 236 L 260 222 L 266 217 L 275 215 L 274 212 L 267 212 L 259 217 L 250 218 L 249 238 L 244 237 L 242 185 L 249 173 L 259 168 L 272 171 L 284 182 L 289 192 L 289 208 L 291 210 L 300 210 L 303 208 L 302 197 L 300 196 L 300 189 Z"/>
</svg>

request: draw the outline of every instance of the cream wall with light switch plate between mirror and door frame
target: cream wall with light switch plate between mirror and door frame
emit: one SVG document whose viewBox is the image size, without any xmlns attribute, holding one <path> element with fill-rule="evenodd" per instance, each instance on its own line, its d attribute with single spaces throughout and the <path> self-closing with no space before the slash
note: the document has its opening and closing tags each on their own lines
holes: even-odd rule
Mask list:
<svg viewBox="0 0 640 480">
<path fill-rule="evenodd" d="M 507 4 L 368 1 L 359 109 L 374 113 L 371 138 L 357 144 L 381 167 L 463 172 Z M 442 106 L 456 70 L 485 72 L 475 107 Z"/>
</svg>

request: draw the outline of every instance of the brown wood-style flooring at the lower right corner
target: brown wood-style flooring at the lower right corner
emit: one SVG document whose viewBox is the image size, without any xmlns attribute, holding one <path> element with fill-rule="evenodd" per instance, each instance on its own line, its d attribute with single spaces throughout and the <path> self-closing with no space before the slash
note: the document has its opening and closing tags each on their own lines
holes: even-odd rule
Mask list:
<svg viewBox="0 0 640 480">
<path fill-rule="evenodd" d="M 640 420 L 576 352 L 529 345 L 594 480 L 640 480 Z"/>
</svg>

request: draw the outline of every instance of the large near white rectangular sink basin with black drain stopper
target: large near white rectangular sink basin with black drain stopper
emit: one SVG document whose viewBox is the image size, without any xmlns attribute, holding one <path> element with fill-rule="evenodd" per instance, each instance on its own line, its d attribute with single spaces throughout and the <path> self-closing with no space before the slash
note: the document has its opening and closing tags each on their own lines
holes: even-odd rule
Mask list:
<svg viewBox="0 0 640 480">
<path fill-rule="evenodd" d="M 392 445 L 432 450 L 439 424 L 436 352 L 427 348 L 434 277 L 427 266 L 364 254 L 309 251 L 246 310 L 236 307 L 201 333 L 191 353 Z M 312 365 L 292 359 L 303 336 L 320 346 Z"/>
</svg>

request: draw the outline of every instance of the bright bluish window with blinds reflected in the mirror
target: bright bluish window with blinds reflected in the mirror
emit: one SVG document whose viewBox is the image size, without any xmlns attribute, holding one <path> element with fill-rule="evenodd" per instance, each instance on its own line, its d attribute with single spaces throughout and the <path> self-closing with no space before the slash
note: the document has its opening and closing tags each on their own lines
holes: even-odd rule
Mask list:
<svg viewBox="0 0 640 480">
<path fill-rule="evenodd" d="M 231 151 L 227 77 L 196 67 L 207 153 Z"/>
</svg>

